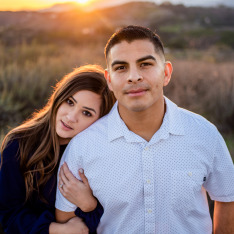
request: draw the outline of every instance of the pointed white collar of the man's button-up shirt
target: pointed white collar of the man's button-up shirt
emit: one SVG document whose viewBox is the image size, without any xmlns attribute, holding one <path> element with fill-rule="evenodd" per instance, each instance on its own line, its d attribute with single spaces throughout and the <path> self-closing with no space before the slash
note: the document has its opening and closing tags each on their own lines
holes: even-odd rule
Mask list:
<svg viewBox="0 0 234 234">
<path fill-rule="evenodd" d="M 166 102 L 166 113 L 163 118 L 163 123 L 150 142 L 155 141 L 158 138 L 166 139 L 169 136 L 169 133 L 173 135 L 184 135 L 184 127 L 178 106 L 167 97 L 164 98 Z M 108 140 L 113 141 L 121 137 L 125 137 L 127 142 L 145 141 L 142 137 L 130 131 L 121 119 L 117 101 L 108 115 Z"/>
</svg>

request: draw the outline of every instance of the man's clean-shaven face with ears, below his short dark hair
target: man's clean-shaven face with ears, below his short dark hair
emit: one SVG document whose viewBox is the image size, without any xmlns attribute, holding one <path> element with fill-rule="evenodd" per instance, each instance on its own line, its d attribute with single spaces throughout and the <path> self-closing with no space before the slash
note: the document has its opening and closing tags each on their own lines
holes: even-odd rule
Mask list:
<svg viewBox="0 0 234 234">
<path fill-rule="evenodd" d="M 119 101 L 119 111 L 142 112 L 162 100 L 163 86 L 171 78 L 171 63 L 156 52 L 149 40 L 122 41 L 108 54 L 105 73 L 109 88 Z"/>
</svg>

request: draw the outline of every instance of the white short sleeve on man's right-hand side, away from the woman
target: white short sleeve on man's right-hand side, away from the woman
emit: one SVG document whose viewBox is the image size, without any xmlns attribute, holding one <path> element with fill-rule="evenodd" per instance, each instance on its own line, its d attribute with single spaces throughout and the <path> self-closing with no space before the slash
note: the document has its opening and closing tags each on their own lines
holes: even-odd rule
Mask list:
<svg viewBox="0 0 234 234">
<path fill-rule="evenodd" d="M 212 200 L 234 201 L 234 165 L 226 143 L 217 131 L 211 172 L 204 187 Z"/>
</svg>

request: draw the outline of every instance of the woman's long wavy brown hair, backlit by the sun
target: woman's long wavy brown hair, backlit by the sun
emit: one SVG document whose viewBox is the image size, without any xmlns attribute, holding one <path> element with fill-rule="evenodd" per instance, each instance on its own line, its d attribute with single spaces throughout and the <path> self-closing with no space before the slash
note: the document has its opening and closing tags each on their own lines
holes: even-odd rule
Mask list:
<svg viewBox="0 0 234 234">
<path fill-rule="evenodd" d="M 59 161 L 59 141 L 55 129 L 56 114 L 59 106 L 81 90 L 97 93 L 102 98 L 100 117 L 112 108 L 115 98 L 108 89 L 104 71 L 97 65 L 86 65 L 66 75 L 54 88 L 47 105 L 20 126 L 11 130 L 1 145 L 1 163 L 3 151 L 14 139 L 19 142 L 20 169 L 26 187 L 26 200 L 33 191 L 37 191 L 42 200 L 42 188 Z"/>
</svg>

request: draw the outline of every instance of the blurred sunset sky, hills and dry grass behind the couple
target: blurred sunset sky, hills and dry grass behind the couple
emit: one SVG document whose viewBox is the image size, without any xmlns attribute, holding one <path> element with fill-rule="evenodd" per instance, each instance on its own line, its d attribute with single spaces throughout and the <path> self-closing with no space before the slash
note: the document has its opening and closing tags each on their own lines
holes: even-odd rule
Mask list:
<svg viewBox="0 0 234 234">
<path fill-rule="evenodd" d="M 164 42 L 166 96 L 214 123 L 234 158 L 234 2 L 0 1 L 0 143 L 73 68 L 105 67 L 108 38 L 135 24 Z"/>
</svg>

